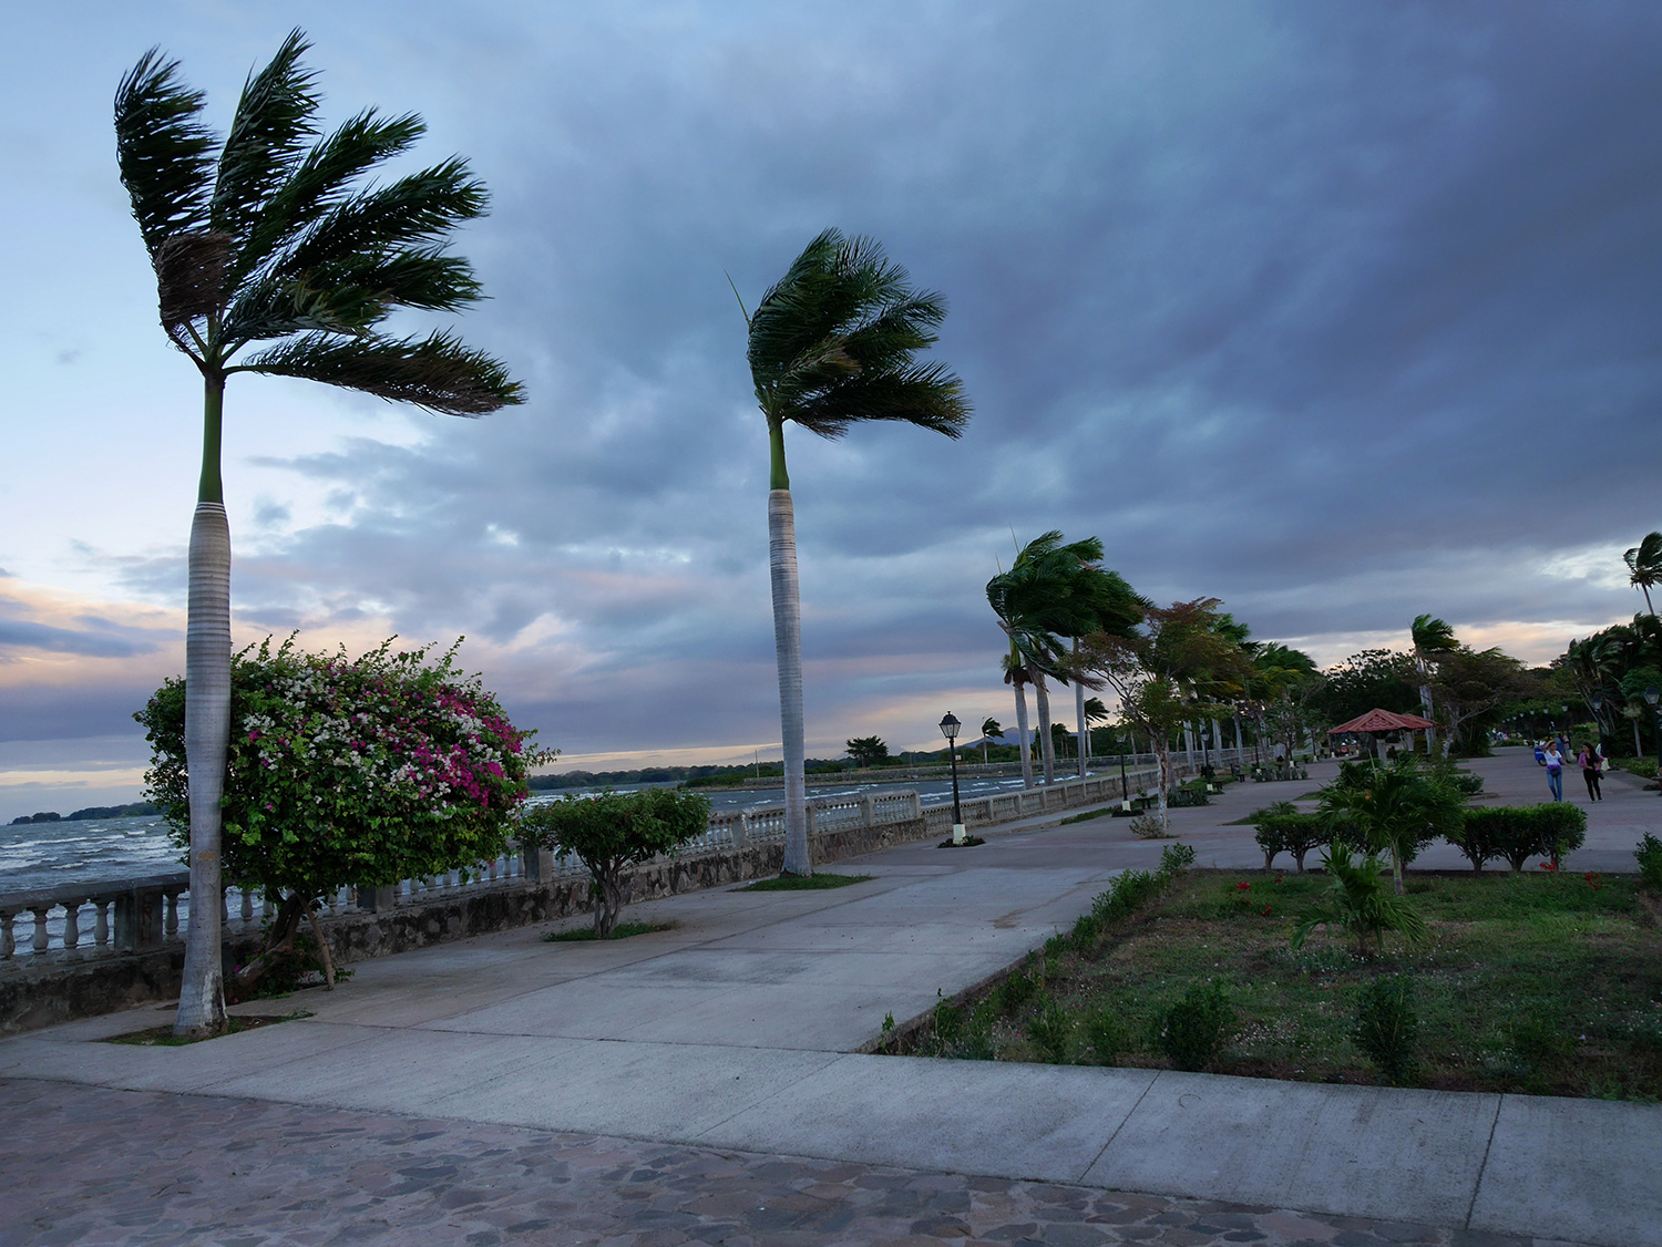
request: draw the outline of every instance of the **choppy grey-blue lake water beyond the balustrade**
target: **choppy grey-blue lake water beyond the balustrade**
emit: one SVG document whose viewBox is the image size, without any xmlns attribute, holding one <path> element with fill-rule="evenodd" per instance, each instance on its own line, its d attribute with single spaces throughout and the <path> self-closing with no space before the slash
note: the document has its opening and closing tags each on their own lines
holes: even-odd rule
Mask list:
<svg viewBox="0 0 1662 1247">
<path fill-rule="evenodd" d="M 1020 785 L 1020 775 L 962 779 L 959 780 L 959 795 L 969 800 L 1009 792 Z M 952 800 L 951 780 L 811 787 L 808 797 L 813 800 L 897 789 L 916 789 L 924 805 Z M 532 800 L 557 800 L 562 795 L 565 794 L 537 792 Z M 718 810 L 730 810 L 748 805 L 778 805 L 784 800 L 784 789 L 710 792 L 705 795 Z M 0 892 L 33 892 L 71 883 L 143 878 L 181 868 L 183 855 L 168 839 L 168 827 L 158 814 L 0 825 Z"/>
</svg>

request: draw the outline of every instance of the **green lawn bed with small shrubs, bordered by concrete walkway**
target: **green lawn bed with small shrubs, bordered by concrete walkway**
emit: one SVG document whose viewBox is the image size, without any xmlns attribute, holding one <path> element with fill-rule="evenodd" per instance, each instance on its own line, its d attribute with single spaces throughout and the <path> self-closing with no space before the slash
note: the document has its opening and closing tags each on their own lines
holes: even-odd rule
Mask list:
<svg viewBox="0 0 1662 1247">
<path fill-rule="evenodd" d="M 1122 1046 L 1109 1063 L 1165 1068 L 1157 1020 L 1185 990 L 1218 981 L 1237 1015 L 1218 1073 L 1384 1083 L 1351 1031 L 1363 986 L 1408 973 L 1413 1086 L 1662 1098 L 1662 907 L 1632 877 L 1409 873 L 1429 938 L 1386 936 L 1366 961 L 1326 928 L 1290 948 L 1326 885 L 1321 873 L 1178 875 L 1100 935 L 1050 940 L 1007 985 L 937 1011 L 942 1026 L 901 1046 L 1090 1064 L 1107 1018 Z"/>
</svg>

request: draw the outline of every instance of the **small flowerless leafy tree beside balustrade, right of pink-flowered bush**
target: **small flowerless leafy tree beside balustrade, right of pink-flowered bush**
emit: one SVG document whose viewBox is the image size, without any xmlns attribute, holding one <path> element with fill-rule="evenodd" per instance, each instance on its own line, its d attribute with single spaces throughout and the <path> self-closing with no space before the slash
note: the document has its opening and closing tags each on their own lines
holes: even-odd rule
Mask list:
<svg viewBox="0 0 1662 1247">
<path fill-rule="evenodd" d="M 617 927 L 628 897 L 623 873 L 661 853 L 673 853 L 710 825 L 710 799 L 675 789 L 570 795 L 525 810 L 527 839 L 572 853 L 587 868 L 595 900 L 595 935 Z"/>
</svg>

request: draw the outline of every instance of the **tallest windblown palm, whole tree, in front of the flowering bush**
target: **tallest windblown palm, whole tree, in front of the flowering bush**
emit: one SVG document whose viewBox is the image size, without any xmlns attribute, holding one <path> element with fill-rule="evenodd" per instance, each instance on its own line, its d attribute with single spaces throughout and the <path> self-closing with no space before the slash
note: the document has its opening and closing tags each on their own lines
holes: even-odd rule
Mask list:
<svg viewBox="0 0 1662 1247">
<path fill-rule="evenodd" d="M 178 61 L 150 50 L 115 96 L 121 183 L 156 271 L 161 327 L 203 377 L 203 458 L 189 541 L 184 641 L 191 918 L 178 1034 L 224 1024 L 219 973 L 219 797 L 231 719 L 231 530 L 219 447 L 226 379 L 306 377 L 482 415 L 522 402 L 489 355 L 449 332 L 391 337 L 401 307 L 454 312 L 480 297 L 445 241 L 482 216 L 467 163 L 359 181 L 422 134 L 419 116 L 364 111 L 319 138 L 314 76 L 296 30 L 243 86 L 221 139 Z M 248 354 L 244 354 L 248 352 Z"/>
</svg>

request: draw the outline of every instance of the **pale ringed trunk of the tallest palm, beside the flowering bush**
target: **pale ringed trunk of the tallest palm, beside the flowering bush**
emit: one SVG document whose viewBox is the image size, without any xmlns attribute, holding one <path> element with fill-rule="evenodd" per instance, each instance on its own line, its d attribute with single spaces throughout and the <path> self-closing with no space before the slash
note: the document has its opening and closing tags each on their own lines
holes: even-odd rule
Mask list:
<svg viewBox="0 0 1662 1247">
<path fill-rule="evenodd" d="M 191 812 L 191 912 L 184 933 L 179 1011 L 173 1033 L 224 1028 L 219 799 L 231 736 L 231 525 L 219 482 L 224 382 L 209 380 L 203 418 L 203 477 L 191 518 L 189 614 L 184 629 L 184 765 Z"/>
</svg>

